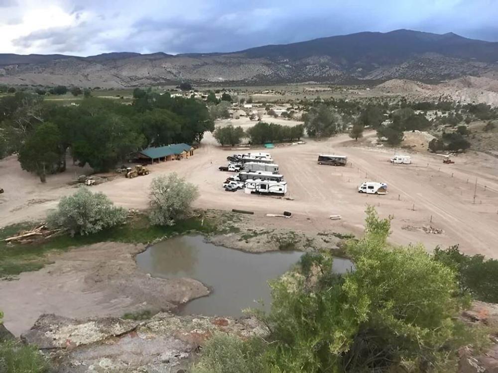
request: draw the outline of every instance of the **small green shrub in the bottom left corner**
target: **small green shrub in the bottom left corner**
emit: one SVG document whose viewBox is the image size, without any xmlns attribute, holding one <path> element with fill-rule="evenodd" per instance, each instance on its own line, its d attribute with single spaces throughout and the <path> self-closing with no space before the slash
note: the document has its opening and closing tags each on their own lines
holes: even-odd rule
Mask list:
<svg viewBox="0 0 498 373">
<path fill-rule="evenodd" d="M 49 365 L 35 346 L 6 341 L 0 343 L 0 372 L 48 373 Z"/>
</svg>

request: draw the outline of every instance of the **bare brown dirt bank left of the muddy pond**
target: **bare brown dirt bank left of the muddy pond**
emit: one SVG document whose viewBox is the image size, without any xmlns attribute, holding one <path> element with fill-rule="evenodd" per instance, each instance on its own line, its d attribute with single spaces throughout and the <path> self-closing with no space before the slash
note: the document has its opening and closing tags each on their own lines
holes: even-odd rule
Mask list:
<svg viewBox="0 0 498 373">
<path fill-rule="evenodd" d="M 0 281 L 5 327 L 20 335 L 43 313 L 121 317 L 140 309 L 169 310 L 209 293 L 196 280 L 164 280 L 140 272 L 134 256 L 141 250 L 129 244 L 94 244 L 53 254 L 49 259 L 54 264 Z"/>
</svg>

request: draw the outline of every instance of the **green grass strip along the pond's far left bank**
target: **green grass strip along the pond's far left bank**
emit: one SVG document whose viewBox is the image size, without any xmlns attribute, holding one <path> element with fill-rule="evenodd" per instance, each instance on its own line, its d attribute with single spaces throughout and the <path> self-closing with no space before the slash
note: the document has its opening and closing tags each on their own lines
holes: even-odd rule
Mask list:
<svg viewBox="0 0 498 373">
<path fill-rule="evenodd" d="M 138 214 L 126 224 L 88 236 L 61 235 L 32 244 L 6 244 L 3 240 L 17 232 L 32 228 L 33 223 L 7 226 L 0 230 L 0 278 L 18 275 L 21 272 L 37 271 L 49 263 L 45 254 L 52 251 L 67 251 L 71 248 L 98 242 L 123 242 L 146 244 L 153 241 L 197 231 L 210 234 L 216 231 L 214 220 L 192 217 L 178 221 L 173 226 L 152 226 L 146 215 Z"/>
</svg>

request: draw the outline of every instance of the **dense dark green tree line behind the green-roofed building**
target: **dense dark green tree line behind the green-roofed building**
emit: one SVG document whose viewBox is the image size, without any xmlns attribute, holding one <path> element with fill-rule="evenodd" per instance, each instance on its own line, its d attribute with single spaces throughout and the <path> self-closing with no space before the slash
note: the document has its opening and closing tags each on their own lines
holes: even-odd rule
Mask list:
<svg viewBox="0 0 498 373">
<path fill-rule="evenodd" d="M 17 153 L 21 167 L 46 175 L 62 172 L 70 154 L 79 166 L 108 171 L 149 146 L 200 142 L 214 130 L 206 105 L 137 89 L 131 105 L 85 97 L 59 106 L 37 94 L 0 98 L 0 157 Z"/>
</svg>

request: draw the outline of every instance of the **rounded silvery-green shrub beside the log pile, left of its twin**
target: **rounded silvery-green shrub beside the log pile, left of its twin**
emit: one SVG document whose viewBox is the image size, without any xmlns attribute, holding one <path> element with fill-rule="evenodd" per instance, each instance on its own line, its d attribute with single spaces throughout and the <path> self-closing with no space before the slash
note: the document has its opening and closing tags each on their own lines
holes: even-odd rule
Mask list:
<svg viewBox="0 0 498 373">
<path fill-rule="evenodd" d="M 126 210 L 115 207 L 102 192 L 92 193 L 85 187 L 62 197 L 57 209 L 48 215 L 52 227 L 62 227 L 74 236 L 87 235 L 124 223 Z"/>
</svg>

